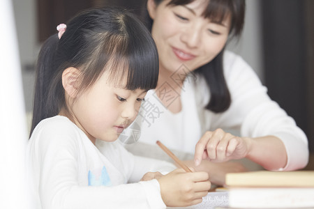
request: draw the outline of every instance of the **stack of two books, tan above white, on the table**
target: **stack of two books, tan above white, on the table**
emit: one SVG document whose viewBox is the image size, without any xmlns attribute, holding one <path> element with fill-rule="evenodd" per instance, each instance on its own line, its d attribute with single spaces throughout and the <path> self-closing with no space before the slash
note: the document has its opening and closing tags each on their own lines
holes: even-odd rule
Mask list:
<svg viewBox="0 0 314 209">
<path fill-rule="evenodd" d="M 314 171 L 227 173 L 230 208 L 314 208 Z"/>
</svg>

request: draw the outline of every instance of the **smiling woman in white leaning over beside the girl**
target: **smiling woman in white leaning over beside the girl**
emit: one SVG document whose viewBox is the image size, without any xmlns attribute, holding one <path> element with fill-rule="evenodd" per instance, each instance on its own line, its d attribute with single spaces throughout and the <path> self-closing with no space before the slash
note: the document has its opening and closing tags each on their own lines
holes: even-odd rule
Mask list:
<svg viewBox="0 0 314 209">
<path fill-rule="evenodd" d="M 160 75 L 140 111 L 141 143 L 160 140 L 195 153 L 195 168 L 208 169 L 210 176 L 215 173 L 209 161 L 247 158 L 284 171 L 306 166 L 304 132 L 270 100 L 251 67 L 225 50 L 243 28 L 244 0 L 148 0 L 147 10 Z"/>
</svg>

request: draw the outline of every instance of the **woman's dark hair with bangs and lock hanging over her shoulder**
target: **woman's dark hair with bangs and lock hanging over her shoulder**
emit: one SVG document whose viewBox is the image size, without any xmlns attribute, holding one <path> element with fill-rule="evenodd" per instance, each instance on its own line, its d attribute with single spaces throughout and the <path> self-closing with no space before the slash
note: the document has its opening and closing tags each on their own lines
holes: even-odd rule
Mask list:
<svg viewBox="0 0 314 209">
<path fill-rule="evenodd" d="M 154 0 L 156 6 L 163 0 Z M 167 6 L 186 5 L 195 0 L 172 0 Z M 246 3 L 245 0 L 209 0 L 207 8 L 204 9 L 205 18 L 214 22 L 222 23 L 227 15 L 230 15 L 230 38 L 239 37 L 244 27 Z M 151 31 L 153 20 L 149 17 L 147 10 L 142 13 L 142 20 Z M 195 70 L 195 73 L 202 75 L 209 86 L 211 99 L 206 109 L 216 113 L 223 112 L 230 107 L 230 92 L 223 75 L 223 52 L 225 48 L 209 63 L 202 65 Z"/>
</svg>

